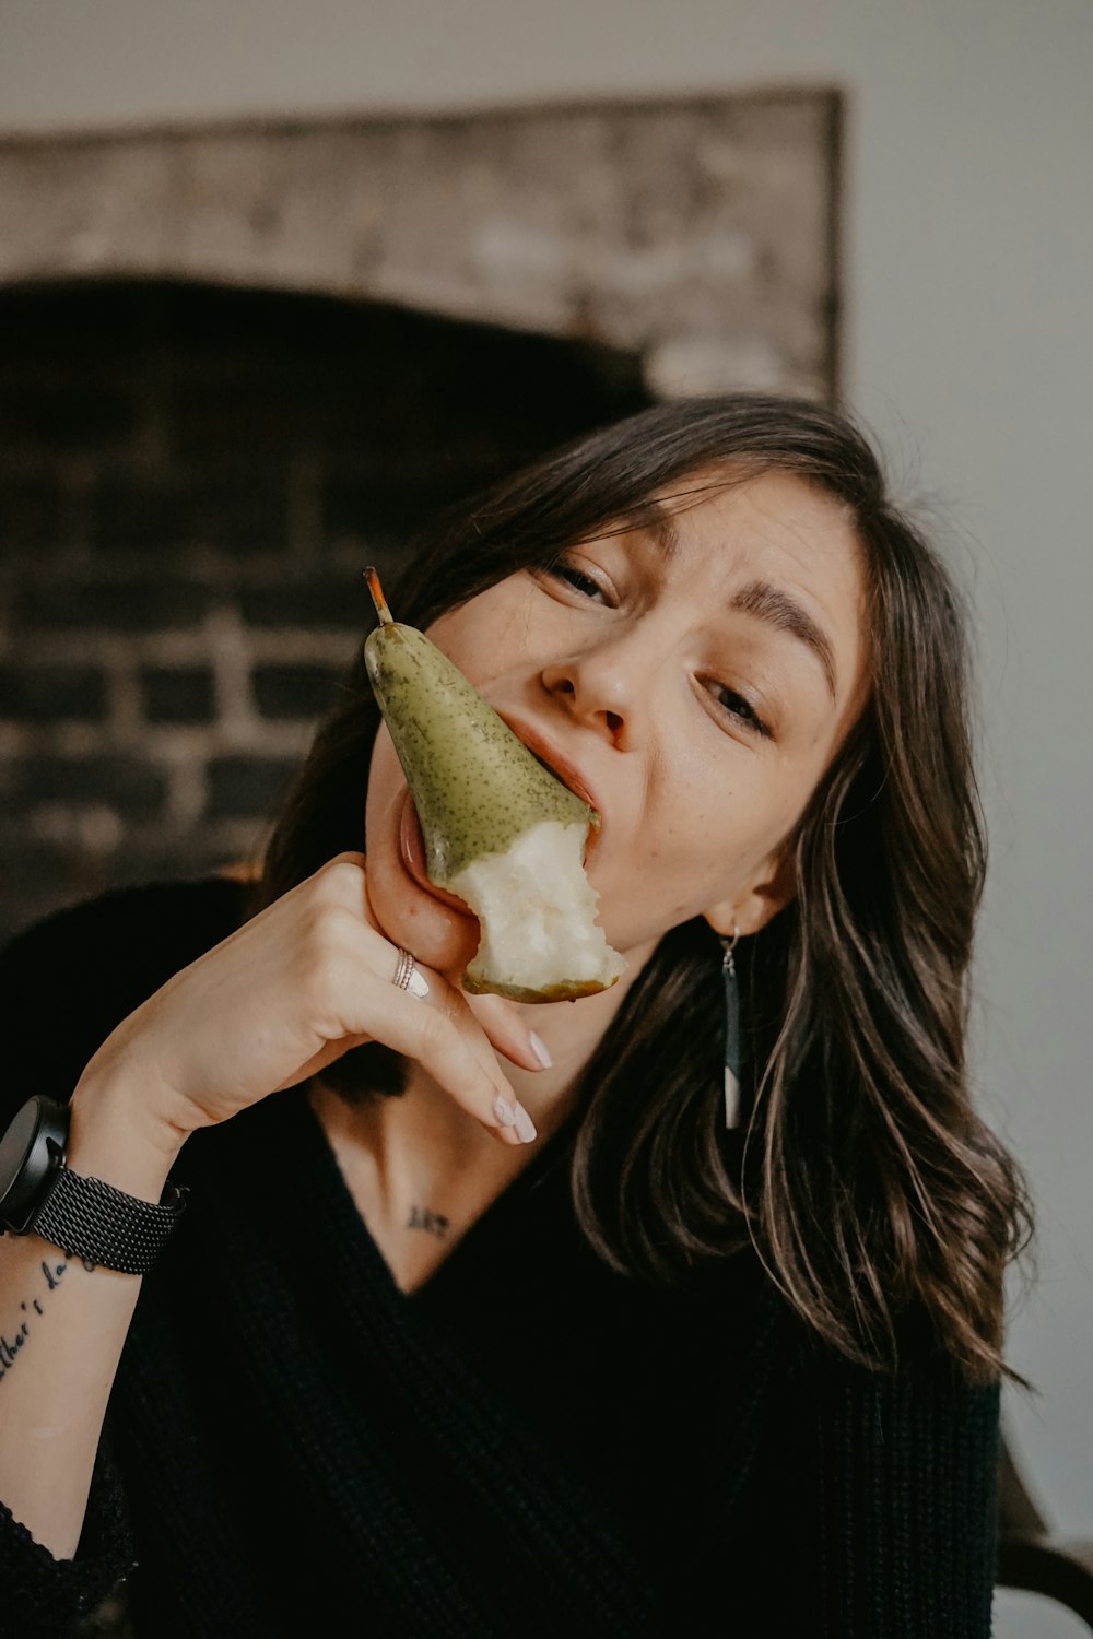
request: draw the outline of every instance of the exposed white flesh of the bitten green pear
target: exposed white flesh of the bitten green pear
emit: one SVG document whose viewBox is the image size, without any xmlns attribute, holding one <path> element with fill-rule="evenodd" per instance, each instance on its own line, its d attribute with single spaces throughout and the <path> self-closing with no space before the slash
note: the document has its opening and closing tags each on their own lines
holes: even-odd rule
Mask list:
<svg viewBox="0 0 1093 1639">
<path fill-rule="evenodd" d="M 596 924 L 600 895 L 583 870 L 587 826 L 542 820 L 505 854 L 475 859 L 451 882 L 482 923 L 464 988 L 549 1000 L 613 985 L 626 962 Z"/>
</svg>

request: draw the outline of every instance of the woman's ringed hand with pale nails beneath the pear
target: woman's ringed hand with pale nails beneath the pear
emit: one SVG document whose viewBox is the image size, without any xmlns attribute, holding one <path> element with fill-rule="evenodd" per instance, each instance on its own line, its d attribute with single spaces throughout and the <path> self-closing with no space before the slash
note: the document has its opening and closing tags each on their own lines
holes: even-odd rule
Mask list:
<svg viewBox="0 0 1093 1639">
<path fill-rule="evenodd" d="M 429 987 L 420 998 L 393 985 L 397 969 L 369 905 L 364 854 L 341 854 L 123 1019 L 74 1103 L 110 1088 L 159 1147 L 177 1151 L 198 1128 L 379 1041 L 416 1059 L 498 1139 L 519 1142 L 495 1049 L 541 1065 L 516 1008 L 498 1000 L 482 1024 L 441 974 L 418 967 Z"/>
</svg>

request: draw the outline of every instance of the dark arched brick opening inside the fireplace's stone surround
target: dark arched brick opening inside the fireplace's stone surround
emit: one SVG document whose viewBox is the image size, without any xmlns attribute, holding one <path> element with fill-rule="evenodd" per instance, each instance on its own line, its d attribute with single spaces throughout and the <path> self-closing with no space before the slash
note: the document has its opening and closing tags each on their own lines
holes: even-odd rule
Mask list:
<svg viewBox="0 0 1093 1639">
<path fill-rule="evenodd" d="M 364 564 L 649 402 L 613 349 L 329 297 L 36 285 L 0 329 L 0 938 L 254 859 Z"/>
</svg>

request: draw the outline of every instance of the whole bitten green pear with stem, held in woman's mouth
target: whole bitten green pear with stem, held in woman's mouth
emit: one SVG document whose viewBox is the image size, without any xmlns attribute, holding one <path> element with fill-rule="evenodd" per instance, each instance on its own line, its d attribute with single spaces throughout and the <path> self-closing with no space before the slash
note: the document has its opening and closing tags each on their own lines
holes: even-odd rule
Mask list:
<svg viewBox="0 0 1093 1639">
<path fill-rule="evenodd" d="M 426 875 L 477 915 L 462 987 L 518 1001 L 606 990 L 626 970 L 596 926 L 585 877 L 596 811 L 551 774 L 446 654 L 369 588 L 380 624 L 369 679 L 418 810 Z"/>
</svg>

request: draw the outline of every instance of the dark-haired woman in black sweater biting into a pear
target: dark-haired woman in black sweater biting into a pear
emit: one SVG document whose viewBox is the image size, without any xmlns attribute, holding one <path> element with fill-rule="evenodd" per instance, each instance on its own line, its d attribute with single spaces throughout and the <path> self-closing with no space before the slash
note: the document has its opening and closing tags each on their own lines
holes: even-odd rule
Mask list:
<svg viewBox="0 0 1093 1639">
<path fill-rule="evenodd" d="M 0 1241 L 13 1631 L 131 1570 L 157 1639 L 986 1634 L 1023 1200 L 967 1087 L 937 559 L 847 421 L 741 395 L 501 485 L 392 605 L 595 801 L 626 974 L 459 990 L 361 664 L 256 905 L 16 942 L 8 1116 L 72 1093 L 72 1174 L 188 1206 L 136 1314 Z"/>
</svg>

